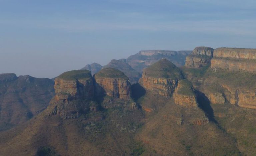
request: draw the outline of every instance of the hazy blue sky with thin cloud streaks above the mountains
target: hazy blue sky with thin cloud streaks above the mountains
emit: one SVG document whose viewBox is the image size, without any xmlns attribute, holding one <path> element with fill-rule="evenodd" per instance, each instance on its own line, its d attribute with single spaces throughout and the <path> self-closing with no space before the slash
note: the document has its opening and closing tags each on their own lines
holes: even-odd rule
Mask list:
<svg viewBox="0 0 256 156">
<path fill-rule="evenodd" d="M 256 48 L 256 1 L 0 0 L 0 73 L 54 78 L 196 46 Z"/>
</svg>

